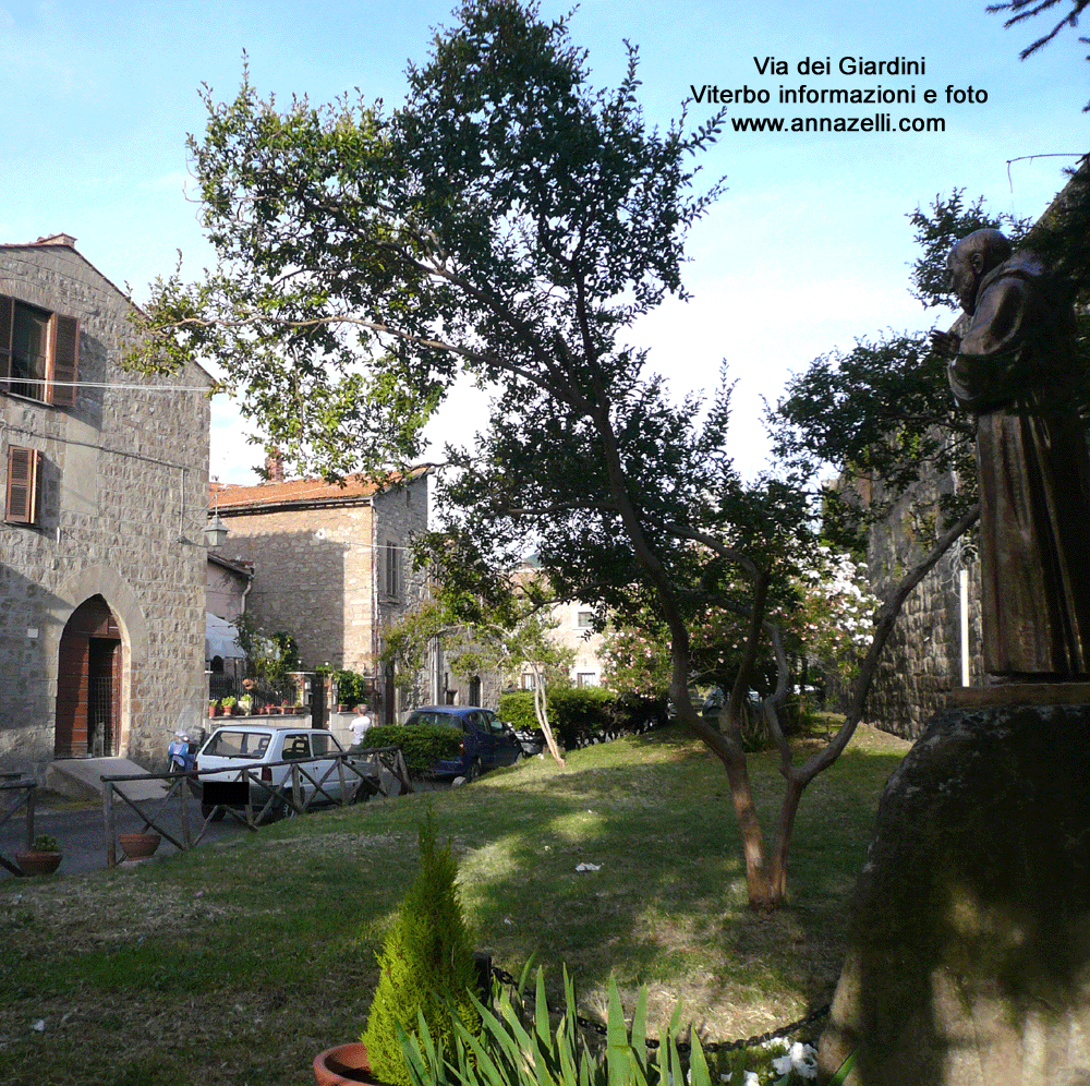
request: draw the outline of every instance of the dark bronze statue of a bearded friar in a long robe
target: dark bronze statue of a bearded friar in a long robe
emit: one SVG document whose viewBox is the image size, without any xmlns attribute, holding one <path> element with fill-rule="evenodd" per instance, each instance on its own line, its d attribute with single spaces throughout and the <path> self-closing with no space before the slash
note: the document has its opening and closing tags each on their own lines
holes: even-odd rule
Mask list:
<svg viewBox="0 0 1090 1086">
<path fill-rule="evenodd" d="M 980 283 L 950 387 L 977 419 L 984 671 L 1090 674 L 1090 458 L 1075 315 L 1030 253 Z"/>
</svg>

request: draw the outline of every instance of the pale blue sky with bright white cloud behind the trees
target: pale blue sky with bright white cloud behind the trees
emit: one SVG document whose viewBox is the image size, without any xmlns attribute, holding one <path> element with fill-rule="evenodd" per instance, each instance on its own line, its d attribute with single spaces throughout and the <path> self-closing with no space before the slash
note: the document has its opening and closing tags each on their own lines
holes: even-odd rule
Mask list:
<svg viewBox="0 0 1090 1086">
<path fill-rule="evenodd" d="M 1064 10 L 1066 10 L 1066 3 Z M 210 260 L 186 201 L 185 135 L 199 132 L 202 83 L 219 98 L 238 87 L 242 53 L 264 95 L 327 101 L 359 87 L 397 105 L 407 61 L 423 60 L 431 27 L 450 23 L 449 2 L 7 3 L 0 0 L 0 241 L 66 232 L 80 251 L 137 300 L 172 270 L 175 251 L 196 275 Z M 567 2 L 545 0 L 555 16 Z M 1009 31 L 985 0 L 588 0 L 574 40 L 588 48 L 598 84 L 640 48 L 642 102 L 666 124 L 705 84 L 766 89 L 766 106 L 731 105 L 705 159 L 727 191 L 691 234 L 687 304 L 668 303 L 632 330 L 654 367 L 680 394 L 716 379 L 722 360 L 737 378 L 731 450 L 748 471 L 766 457 L 762 397 L 788 373 L 853 337 L 948 324 L 906 290 L 915 257 L 905 218 L 954 186 L 984 195 L 993 210 L 1037 216 L 1074 159 L 1008 160 L 1088 147 L 1088 47 L 1064 32 L 1027 61 L 1018 51 L 1046 26 Z M 754 57 L 775 57 L 788 75 L 762 75 Z M 829 58 L 831 75 L 800 76 L 806 58 Z M 925 58 L 922 75 L 844 75 L 843 57 Z M 908 88 L 934 105 L 779 106 L 779 86 Z M 986 92 L 983 104 L 946 102 L 946 87 Z M 699 120 L 714 109 L 690 104 Z M 736 132 L 748 117 L 937 118 L 945 132 Z M 484 405 L 462 390 L 435 424 L 437 439 L 467 436 Z M 211 472 L 247 481 L 262 454 L 244 444 L 228 401 L 214 405 Z"/>
</svg>

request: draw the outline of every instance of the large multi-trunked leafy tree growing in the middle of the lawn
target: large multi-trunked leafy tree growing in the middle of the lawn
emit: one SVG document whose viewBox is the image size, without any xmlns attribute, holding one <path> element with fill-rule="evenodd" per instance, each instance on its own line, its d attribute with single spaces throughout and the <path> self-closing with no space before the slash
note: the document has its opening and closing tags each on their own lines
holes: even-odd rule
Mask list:
<svg viewBox="0 0 1090 1086">
<path fill-rule="evenodd" d="M 729 779 L 750 900 L 776 904 L 802 792 L 843 751 L 865 693 L 796 765 L 767 615 L 818 546 L 811 478 L 743 481 L 724 452 L 726 381 L 706 402 L 677 401 L 626 339 L 666 295 L 686 297 L 686 236 L 719 191 L 695 188 L 693 159 L 722 118 L 649 129 L 634 48 L 619 86 L 596 90 L 566 21 L 535 4 L 456 14 L 393 112 L 349 99 L 281 109 L 247 80 L 228 102 L 208 92 L 191 153 L 219 264 L 156 285 L 144 364 L 215 355 L 286 460 L 330 475 L 403 464 L 459 375 L 494 389 L 481 442 L 450 454 L 448 531 L 431 560 L 487 600 L 529 542 L 559 598 L 601 616 L 653 608 L 678 714 Z M 868 659 L 925 568 L 885 605 Z M 689 699 L 690 631 L 708 608 L 739 606 L 720 733 Z M 764 639 L 780 661 L 766 719 L 786 782 L 771 847 L 740 734 Z"/>
</svg>

